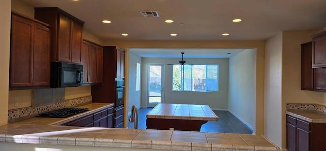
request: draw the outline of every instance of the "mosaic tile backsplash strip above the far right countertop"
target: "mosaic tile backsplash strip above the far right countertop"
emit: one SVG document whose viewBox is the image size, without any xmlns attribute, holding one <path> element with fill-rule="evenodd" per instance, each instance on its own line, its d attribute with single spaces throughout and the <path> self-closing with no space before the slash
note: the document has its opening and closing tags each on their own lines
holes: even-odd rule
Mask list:
<svg viewBox="0 0 326 151">
<path fill-rule="evenodd" d="M 286 110 L 299 109 L 299 110 L 316 110 L 326 113 L 326 106 L 319 104 L 301 104 L 301 103 L 287 103 Z"/>
</svg>

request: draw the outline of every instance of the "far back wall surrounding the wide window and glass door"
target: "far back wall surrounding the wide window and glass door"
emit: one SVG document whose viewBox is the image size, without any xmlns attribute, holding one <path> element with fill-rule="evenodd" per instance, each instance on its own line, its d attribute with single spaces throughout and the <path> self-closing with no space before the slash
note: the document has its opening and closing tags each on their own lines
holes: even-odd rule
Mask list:
<svg viewBox="0 0 326 151">
<path fill-rule="evenodd" d="M 205 104 L 212 109 L 228 109 L 228 58 L 185 58 L 191 64 L 219 64 L 219 91 L 218 92 L 173 92 L 172 65 L 180 58 L 142 58 L 142 93 L 141 105 L 146 106 L 147 93 L 147 64 L 165 63 L 164 101 L 165 103 Z"/>
</svg>

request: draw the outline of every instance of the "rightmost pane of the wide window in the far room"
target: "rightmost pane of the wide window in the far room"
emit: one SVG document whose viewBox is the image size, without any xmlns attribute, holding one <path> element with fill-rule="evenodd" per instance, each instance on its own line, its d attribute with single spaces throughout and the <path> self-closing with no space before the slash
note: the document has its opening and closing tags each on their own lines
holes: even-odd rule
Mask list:
<svg viewBox="0 0 326 151">
<path fill-rule="evenodd" d="M 218 91 L 219 66 L 207 65 L 207 91 Z"/>
</svg>

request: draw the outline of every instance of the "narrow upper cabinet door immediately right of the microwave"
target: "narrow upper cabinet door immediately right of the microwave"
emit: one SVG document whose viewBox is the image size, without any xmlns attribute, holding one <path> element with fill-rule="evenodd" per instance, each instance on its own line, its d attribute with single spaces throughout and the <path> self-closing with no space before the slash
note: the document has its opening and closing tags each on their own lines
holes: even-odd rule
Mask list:
<svg viewBox="0 0 326 151">
<path fill-rule="evenodd" d="M 83 65 L 83 83 L 88 84 L 88 54 L 89 54 L 89 44 L 87 42 L 83 42 L 82 45 L 82 65 Z"/>
</svg>

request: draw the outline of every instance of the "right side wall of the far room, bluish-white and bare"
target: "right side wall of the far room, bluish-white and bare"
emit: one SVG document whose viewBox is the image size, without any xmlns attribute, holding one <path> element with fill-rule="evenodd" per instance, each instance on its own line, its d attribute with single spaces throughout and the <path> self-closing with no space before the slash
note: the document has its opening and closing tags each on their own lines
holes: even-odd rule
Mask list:
<svg viewBox="0 0 326 151">
<path fill-rule="evenodd" d="M 248 49 L 229 61 L 229 111 L 253 129 L 256 111 L 256 50 Z"/>
</svg>

